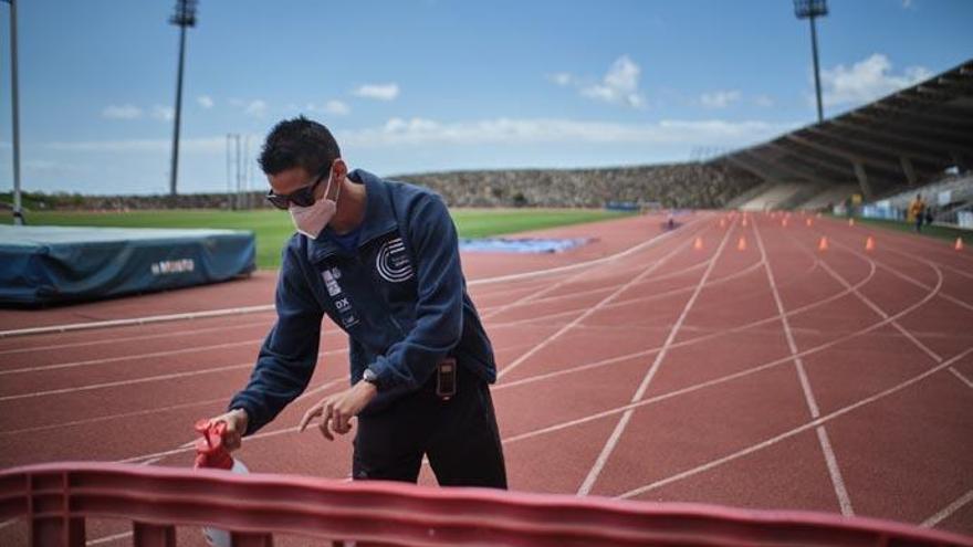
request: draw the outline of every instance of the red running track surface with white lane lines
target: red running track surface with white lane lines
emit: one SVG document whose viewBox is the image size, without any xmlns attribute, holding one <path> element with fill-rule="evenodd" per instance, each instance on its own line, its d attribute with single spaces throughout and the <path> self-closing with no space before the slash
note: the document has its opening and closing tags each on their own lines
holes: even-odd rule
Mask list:
<svg viewBox="0 0 973 547">
<path fill-rule="evenodd" d="M 544 232 L 598 238 L 575 252 L 464 256 L 501 367 L 494 401 L 511 486 L 973 534 L 973 256 L 827 219 L 807 227 L 794 215 L 784 228 L 754 214 L 744 227 L 736 215 L 720 228 L 722 218 L 700 214 L 659 238 L 658 218 L 588 224 Z M 261 305 L 272 291 L 262 274 L 7 311 L 0 330 Z M 255 313 L 0 338 L 0 466 L 190 465 L 192 423 L 243 386 L 272 320 Z M 307 404 L 347 383 L 345 348 L 328 324 L 308 393 L 240 452 L 251 469 L 347 476 L 349 439 L 294 428 Z M 91 522 L 90 543 L 125 545 L 129 529 Z M 180 536 L 201 544 L 198 530 Z M 23 537 L 23 525 L 0 524 L 0 545 Z"/>
</svg>

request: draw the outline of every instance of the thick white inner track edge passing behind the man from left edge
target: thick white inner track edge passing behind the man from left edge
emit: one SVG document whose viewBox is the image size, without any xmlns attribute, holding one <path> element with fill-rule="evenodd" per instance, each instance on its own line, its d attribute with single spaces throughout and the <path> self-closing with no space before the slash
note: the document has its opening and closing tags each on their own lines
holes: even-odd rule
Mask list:
<svg viewBox="0 0 973 547">
<path fill-rule="evenodd" d="M 683 229 L 695 224 L 702 221 L 703 218 L 694 219 L 690 223 L 688 223 Z M 603 256 L 600 259 L 594 259 L 586 262 L 578 262 L 575 264 L 568 264 L 564 266 L 548 267 L 545 270 L 535 270 L 532 272 L 523 272 L 517 274 L 510 275 L 500 275 L 496 277 L 488 277 L 483 280 L 473 280 L 467 283 L 467 286 L 479 286 L 479 285 L 489 285 L 493 283 L 509 283 L 511 281 L 519 280 L 529 280 L 533 277 L 540 277 L 545 275 L 551 275 L 559 272 L 568 272 L 572 270 L 577 270 L 579 267 L 593 266 L 596 264 L 603 264 L 605 262 L 614 261 L 620 259 L 622 256 L 627 256 L 629 254 L 636 253 L 649 245 L 655 244 L 658 241 L 669 236 L 674 232 L 663 232 L 655 238 L 632 245 L 624 251 L 620 251 L 615 254 L 610 254 L 608 256 Z M 167 315 L 151 315 L 146 317 L 132 317 L 126 319 L 111 319 L 111 320 L 98 320 L 98 322 L 85 322 L 85 323 L 71 323 L 64 325 L 50 325 L 45 327 L 31 327 L 31 328 L 19 328 L 12 330 L 0 330 L 0 338 L 12 337 L 12 336 L 27 336 L 27 335 L 39 335 L 39 334 L 51 334 L 51 333 L 69 333 L 74 330 L 88 330 L 95 328 L 107 328 L 107 327 L 125 327 L 133 325 L 148 325 L 153 323 L 163 323 L 163 322 L 171 322 L 171 320 L 188 320 L 188 319 L 199 319 L 206 317 L 222 317 L 227 315 L 243 315 L 243 314 L 253 314 L 260 312 L 273 312 L 273 304 L 264 304 L 259 306 L 243 306 L 243 307 L 231 307 L 231 308 L 222 308 L 222 309 L 209 309 L 205 312 L 189 312 L 181 314 L 167 314 Z"/>
</svg>

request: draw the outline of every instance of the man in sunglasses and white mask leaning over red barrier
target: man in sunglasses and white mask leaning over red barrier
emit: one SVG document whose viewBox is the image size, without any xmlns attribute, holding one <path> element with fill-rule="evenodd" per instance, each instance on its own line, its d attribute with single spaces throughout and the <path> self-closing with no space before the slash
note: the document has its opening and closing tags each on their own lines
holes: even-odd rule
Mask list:
<svg viewBox="0 0 973 547">
<path fill-rule="evenodd" d="M 441 485 L 506 487 L 488 385 L 493 349 L 465 290 L 456 228 L 435 193 L 348 172 L 321 124 L 284 120 L 260 157 L 268 200 L 297 229 L 283 251 L 278 320 L 247 387 L 213 418 L 231 450 L 311 380 L 321 320 L 348 335 L 351 389 L 301 420 L 327 440 L 357 420 L 353 477 L 416 482 L 423 455 Z"/>
</svg>

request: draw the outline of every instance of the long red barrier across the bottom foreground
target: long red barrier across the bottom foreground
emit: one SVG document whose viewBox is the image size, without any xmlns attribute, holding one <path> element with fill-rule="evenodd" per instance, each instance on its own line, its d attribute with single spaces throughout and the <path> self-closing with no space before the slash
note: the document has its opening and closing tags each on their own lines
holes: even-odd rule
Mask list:
<svg viewBox="0 0 973 547">
<path fill-rule="evenodd" d="M 387 545 L 973 546 L 973 537 L 869 518 L 432 488 L 113 463 L 0 471 L 0 520 L 29 519 L 32 546 L 83 546 L 85 518 L 133 522 L 136 546 L 175 546 L 176 525 Z"/>
</svg>

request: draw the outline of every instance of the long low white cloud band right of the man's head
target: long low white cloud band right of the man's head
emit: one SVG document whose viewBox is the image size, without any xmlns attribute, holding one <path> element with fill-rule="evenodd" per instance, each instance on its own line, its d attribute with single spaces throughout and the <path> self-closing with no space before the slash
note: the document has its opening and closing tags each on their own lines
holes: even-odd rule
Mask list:
<svg viewBox="0 0 973 547">
<path fill-rule="evenodd" d="M 339 133 L 338 141 L 358 147 L 429 144 L 683 144 L 740 146 L 773 137 L 796 124 L 765 122 L 676 120 L 650 124 L 577 122 L 556 118 L 495 118 L 440 123 L 427 118 L 391 118 L 381 127 Z"/>
</svg>

